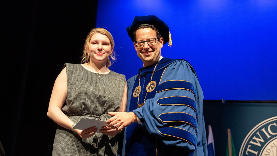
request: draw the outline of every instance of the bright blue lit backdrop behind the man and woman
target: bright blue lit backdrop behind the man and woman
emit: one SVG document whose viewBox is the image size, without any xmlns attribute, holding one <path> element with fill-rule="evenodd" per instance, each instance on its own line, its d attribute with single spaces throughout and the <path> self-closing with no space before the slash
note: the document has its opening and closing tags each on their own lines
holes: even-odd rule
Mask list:
<svg viewBox="0 0 277 156">
<path fill-rule="evenodd" d="M 170 27 L 162 56 L 188 60 L 204 99 L 277 99 L 277 1 L 99 1 L 96 27 L 110 31 L 126 79 L 142 67 L 126 27 L 134 16 L 157 15 Z"/>
</svg>

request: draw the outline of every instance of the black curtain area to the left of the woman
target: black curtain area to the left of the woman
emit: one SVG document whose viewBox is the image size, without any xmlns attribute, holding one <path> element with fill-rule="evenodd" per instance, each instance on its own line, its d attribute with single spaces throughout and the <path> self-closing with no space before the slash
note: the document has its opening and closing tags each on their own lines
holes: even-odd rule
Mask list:
<svg viewBox="0 0 277 156">
<path fill-rule="evenodd" d="M 97 3 L 1 2 L 0 141 L 6 155 L 51 155 L 57 124 L 48 103 L 63 64 L 80 63 Z"/>
</svg>

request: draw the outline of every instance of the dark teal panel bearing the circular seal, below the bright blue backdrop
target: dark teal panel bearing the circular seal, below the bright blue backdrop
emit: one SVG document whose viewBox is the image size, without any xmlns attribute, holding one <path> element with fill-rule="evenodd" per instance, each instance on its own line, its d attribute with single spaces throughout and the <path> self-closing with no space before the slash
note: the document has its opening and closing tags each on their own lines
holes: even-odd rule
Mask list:
<svg viewBox="0 0 277 156">
<path fill-rule="evenodd" d="M 276 156 L 277 103 L 242 102 L 247 101 L 204 101 L 207 137 L 211 125 L 215 155 L 225 155 L 229 128 L 237 156 Z"/>
</svg>

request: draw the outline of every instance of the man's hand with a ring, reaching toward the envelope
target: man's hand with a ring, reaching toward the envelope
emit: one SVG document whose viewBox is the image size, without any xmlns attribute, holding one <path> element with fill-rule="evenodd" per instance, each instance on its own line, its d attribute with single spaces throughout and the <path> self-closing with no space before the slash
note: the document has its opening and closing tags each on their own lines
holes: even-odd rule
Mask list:
<svg viewBox="0 0 277 156">
<path fill-rule="evenodd" d="M 137 116 L 134 112 L 108 112 L 109 115 L 113 116 L 108 121 L 106 121 L 107 127 L 117 128 L 121 130 L 131 123 L 137 122 Z"/>
</svg>

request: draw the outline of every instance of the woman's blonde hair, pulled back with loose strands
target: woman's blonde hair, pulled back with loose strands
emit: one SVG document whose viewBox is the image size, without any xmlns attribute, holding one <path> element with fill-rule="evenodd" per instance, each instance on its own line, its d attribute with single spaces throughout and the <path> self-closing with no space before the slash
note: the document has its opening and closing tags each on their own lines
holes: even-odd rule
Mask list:
<svg viewBox="0 0 277 156">
<path fill-rule="evenodd" d="M 103 35 L 106 35 L 107 38 L 109 38 L 109 40 L 110 40 L 111 47 L 114 47 L 114 38 L 112 37 L 112 34 L 110 32 L 108 32 L 108 30 L 106 30 L 104 28 L 91 29 L 90 33 L 88 34 L 88 36 L 86 38 L 85 44 L 84 44 L 81 63 L 89 63 L 90 62 L 89 53 L 88 53 L 89 42 L 90 42 L 91 37 L 96 33 L 101 33 Z M 114 50 L 112 51 L 110 57 L 111 57 L 111 59 L 113 60 L 113 63 L 114 63 L 114 61 L 116 60 L 116 52 Z M 109 67 L 109 66 L 112 65 L 110 57 L 107 59 L 106 67 Z"/>
</svg>

